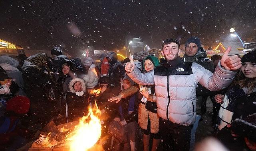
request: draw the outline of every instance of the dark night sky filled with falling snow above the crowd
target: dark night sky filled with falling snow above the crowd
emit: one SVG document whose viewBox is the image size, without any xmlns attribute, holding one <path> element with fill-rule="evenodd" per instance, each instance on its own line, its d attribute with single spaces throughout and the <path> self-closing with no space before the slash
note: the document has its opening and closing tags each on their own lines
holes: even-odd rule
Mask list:
<svg viewBox="0 0 256 151">
<path fill-rule="evenodd" d="M 25 49 L 61 46 L 77 54 L 88 45 L 121 49 L 133 37 L 161 48 L 164 39 L 184 44 L 191 36 L 216 46 L 232 27 L 243 41 L 256 41 L 255 0 L 2 0 L 0 5 L 0 39 Z"/>
</svg>

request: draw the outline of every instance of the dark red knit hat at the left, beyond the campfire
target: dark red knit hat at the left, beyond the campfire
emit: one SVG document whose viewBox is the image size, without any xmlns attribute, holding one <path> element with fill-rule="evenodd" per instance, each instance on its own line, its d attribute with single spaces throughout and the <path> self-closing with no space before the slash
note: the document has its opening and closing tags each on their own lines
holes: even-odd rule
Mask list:
<svg viewBox="0 0 256 151">
<path fill-rule="evenodd" d="M 30 108 L 30 99 L 25 96 L 15 96 L 6 102 L 6 111 L 13 111 L 16 114 L 25 114 Z"/>
</svg>

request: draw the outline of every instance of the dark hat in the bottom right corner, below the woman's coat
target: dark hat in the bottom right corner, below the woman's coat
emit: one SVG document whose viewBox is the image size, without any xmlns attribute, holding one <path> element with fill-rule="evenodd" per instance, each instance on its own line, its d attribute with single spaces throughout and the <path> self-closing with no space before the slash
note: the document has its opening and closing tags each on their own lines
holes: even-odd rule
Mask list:
<svg viewBox="0 0 256 151">
<path fill-rule="evenodd" d="M 256 113 L 246 118 L 237 118 L 232 122 L 232 130 L 239 136 L 247 137 L 256 142 Z"/>
</svg>

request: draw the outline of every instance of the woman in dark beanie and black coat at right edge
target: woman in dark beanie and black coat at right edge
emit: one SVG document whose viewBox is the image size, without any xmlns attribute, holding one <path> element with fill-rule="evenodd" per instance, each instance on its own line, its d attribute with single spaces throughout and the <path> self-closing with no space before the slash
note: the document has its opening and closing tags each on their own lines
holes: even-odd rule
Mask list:
<svg viewBox="0 0 256 151">
<path fill-rule="evenodd" d="M 230 150 L 242 150 L 234 147 L 239 143 L 239 135 L 232 132 L 236 118 L 246 118 L 256 113 L 256 48 L 245 54 L 242 67 L 236 81 L 229 87 L 225 95 L 215 95 L 215 101 L 221 104 L 218 113 L 220 125 L 217 137 Z M 235 137 L 234 137 L 235 136 Z"/>
</svg>

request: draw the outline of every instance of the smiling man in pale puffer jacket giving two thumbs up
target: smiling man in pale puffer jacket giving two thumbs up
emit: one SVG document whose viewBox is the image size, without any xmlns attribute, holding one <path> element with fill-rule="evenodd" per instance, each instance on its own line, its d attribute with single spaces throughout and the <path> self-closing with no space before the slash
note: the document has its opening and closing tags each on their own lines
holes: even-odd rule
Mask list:
<svg viewBox="0 0 256 151">
<path fill-rule="evenodd" d="M 166 39 L 162 54 L 166 62 L 155 68 L 154 73 L 142 74 L 133 60 L 127 62 L 125 70 L 129 77 L 141 85 L 154 85 L 157 99 L 157 114 L 162 146 L 165 150 L 188 151 L 191 126 L 196 117 L 196 86 L 201 85 L 212 91 L 227 87 L 241 67 L 238 56 L 228 56 L 228 47 L 221 64 L 214 74 L 197 63 L 183 62 L 179 57 L 179 41 Z"/>
</svg>

